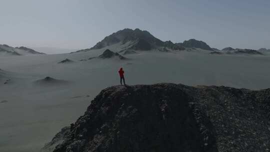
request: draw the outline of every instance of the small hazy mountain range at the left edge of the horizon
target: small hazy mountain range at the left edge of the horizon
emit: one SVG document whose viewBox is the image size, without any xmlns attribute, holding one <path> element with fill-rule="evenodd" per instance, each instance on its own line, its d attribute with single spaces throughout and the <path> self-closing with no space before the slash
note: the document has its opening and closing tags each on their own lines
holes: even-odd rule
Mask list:
<svg viewBox="0 0 270 152">
<path fill-rule="evenodd" d="M 35 51 L 31 48 L 27 48 L 24 46 L 20 47 L 12 47 L 6 44 L 0 44 L 0 56 L 3 55 L 37 55 L 37 54 L 45 54 L 42 52 Z"/>
</svg>

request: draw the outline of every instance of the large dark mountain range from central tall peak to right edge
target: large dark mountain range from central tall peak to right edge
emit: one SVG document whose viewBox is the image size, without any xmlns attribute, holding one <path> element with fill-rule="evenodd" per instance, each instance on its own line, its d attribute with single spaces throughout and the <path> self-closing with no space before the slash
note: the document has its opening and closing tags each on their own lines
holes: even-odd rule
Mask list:
<svg viewBox="0 0 270 152">
<path fill-rule="evenodd" d="M 157 49 L 160 51 L 169 51 L 169 50 L 184 50 L 186 48 L 200 48 L 210 51 L 220 51 L 217 48 L 211 48 L 206 42 L 196 39 L 184 40 L 183 42 L 173 43 L 170 40 L 162 41 L 154 37 L 150 32 L 146 30 L 129 29 L 124 28 L 117 32 L 114 32 L 106 36 L 101 41 L 97 42 L 94 46 L 86 49 L 81 49 L 76 52 L 89 51 L 92 49 L 101 49 L 105 47 L 114 46 L 115 51 L 129 51 L 129 50 L 152 50 Z M 268 51 L 266 48 L 261 48 L 259 50 L 252 49 L 240 49 L 226 47 L 221 51 L 229 51 L 228 53 L 249 53 L 249 54 L 260 54 L 261 51 Z M 215 54 L 215 53 L 213 53 Z M 217 53 L 223 54 L 223 52 Z"/>
</svg>

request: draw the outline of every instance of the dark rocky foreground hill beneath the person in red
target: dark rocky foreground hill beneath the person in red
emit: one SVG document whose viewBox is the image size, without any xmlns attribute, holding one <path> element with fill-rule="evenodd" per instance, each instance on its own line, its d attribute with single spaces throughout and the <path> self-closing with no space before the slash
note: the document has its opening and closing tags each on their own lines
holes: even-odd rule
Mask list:
<svg viewBox="0 0 270 152">
<path fill-rule="evenodd" d="M 118 85 L 42 151 L 269 151 L 269 118 L 270 89 Z"/>
</svg>

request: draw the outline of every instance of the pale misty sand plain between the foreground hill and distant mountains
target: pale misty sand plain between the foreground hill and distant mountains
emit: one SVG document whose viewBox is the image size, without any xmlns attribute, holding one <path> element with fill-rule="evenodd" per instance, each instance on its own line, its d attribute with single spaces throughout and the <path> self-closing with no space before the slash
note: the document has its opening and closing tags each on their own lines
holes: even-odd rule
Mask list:
<svg viewBox="0 0 270 152">
<path fill-rule="evenodd" d="M 112 46 L 112 50 L 117 50 Z M 105 48 L 104 48 L 105 49 Z M 0 57 L 0 151 L 38 151 L 63 126 L 82 115 L 103 88 L 119 84 L 123 67 L 127 84 L 158 82 L 187 85 L 270 87 L 270 55 L 210 55 L 207 51 L 142 52 L 130 60 L 87 59 L 103 50 L 71 54 Z M 75 62 L 58 64 L 68 58 Z M 0 73 L 1 76 L 1 73 Z M 36 85 L 50 76 L 67 85 Z M 3 84 L 10 78 L 10 82 Z M 89 96 L 87 96 L 89 95 Z"/>
</svg>

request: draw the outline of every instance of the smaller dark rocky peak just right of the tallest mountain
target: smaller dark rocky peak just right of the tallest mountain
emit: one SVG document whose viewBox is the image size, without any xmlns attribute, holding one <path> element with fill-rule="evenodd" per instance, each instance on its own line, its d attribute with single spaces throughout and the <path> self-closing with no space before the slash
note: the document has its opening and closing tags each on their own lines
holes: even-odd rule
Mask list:
<svg viewBox="0 0 270 152">
<path fill-rule="evenodd" d="M 196 40 L 196 39 L 189 39 L 189 40 L 184 40 L 182 43 L 175 43 L 178 46 L 181 47 L 194 47 L 194 48 L 201 48 L 205 50 L 213 50 L 208 44 L 206 44 L 204 41 L 201 40 Z"/>
</svg>

